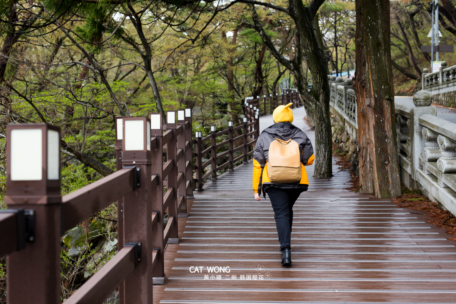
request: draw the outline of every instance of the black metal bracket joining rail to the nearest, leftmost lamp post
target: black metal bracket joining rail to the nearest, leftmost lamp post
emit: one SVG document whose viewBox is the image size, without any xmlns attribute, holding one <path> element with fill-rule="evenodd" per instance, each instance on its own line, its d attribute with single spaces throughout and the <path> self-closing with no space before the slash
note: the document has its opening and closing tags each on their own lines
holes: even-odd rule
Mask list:
<svg viewBox="0 0 456 304">
<path fill-rule="evenodd" d="M 35 210 L 5 209 L 0 213 L 16 214 L 17 250 L 26 247 L 26 242 L 35 241 Z"/>
</svg>

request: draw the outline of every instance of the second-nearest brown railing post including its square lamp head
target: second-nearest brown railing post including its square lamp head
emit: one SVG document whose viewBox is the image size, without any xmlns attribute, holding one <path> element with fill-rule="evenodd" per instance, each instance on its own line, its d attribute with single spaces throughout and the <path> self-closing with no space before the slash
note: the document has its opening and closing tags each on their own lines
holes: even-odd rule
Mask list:
<svg viewBox="0 0 456 304">
<path fill-rule="evenodd" d="M 136 189 L 124 196 L 124 246 L 140 242 L 138 266 L 124 280 L 124 303 L 152 302 L 152 191 L 150 119 L 123 119 L 122 167 L 133 167 Z"/>
</svg>

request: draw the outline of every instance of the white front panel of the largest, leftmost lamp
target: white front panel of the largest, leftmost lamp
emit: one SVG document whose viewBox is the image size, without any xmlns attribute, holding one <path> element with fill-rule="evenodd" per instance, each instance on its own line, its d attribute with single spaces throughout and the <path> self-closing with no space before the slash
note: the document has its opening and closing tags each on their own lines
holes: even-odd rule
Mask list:
<svg viewBox="0 0 456 304">
<path fill-rule="evenodd" d="M 41 129 L 13 129 L 10 137 L 11 180 L 41 180 L 43 177 Z"/>
</svg>

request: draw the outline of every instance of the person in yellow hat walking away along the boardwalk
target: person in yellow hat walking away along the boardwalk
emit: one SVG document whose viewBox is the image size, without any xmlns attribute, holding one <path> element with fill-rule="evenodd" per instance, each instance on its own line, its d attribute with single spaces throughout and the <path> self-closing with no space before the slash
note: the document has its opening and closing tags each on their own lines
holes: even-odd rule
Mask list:
<svg viewBox="0 0 456 304">
<path fill-rule="evenodd" d="M 274 124 L 259 135 L 254 150 L 253 189 L 257 201 L 263 191 L 274 209 L 275 226 L 282 251 L 282 266 L 291 265 L 291 225 L 293 204 L 309 180 L 304 166 L 314 161 L 310 139 L 300 128 L 291 124 L 293 111 L 287 105 L 275 108 Z"/>
</svg>

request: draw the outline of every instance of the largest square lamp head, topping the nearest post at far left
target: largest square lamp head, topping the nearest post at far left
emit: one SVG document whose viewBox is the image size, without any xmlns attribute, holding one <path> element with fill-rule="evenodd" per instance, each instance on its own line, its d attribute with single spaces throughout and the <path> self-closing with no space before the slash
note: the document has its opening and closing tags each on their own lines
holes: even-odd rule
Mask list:
<svg viewBox="0 0 456 304">
<path fill-rule="evenodd" d="M 60 203 L 60 128 L 8 124 L 6 171 L 6 204 Z"/>
</svg>

